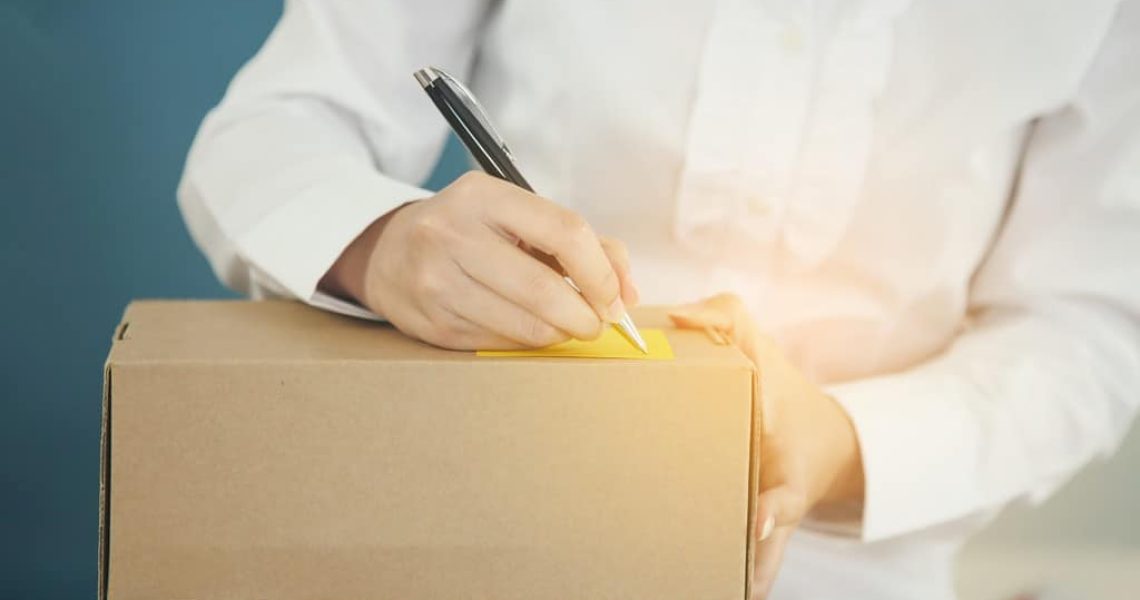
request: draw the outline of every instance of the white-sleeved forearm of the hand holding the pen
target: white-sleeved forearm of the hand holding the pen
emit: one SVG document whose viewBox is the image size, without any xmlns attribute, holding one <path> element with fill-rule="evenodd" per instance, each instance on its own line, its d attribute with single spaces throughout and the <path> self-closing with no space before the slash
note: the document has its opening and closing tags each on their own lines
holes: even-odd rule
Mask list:
<svg viewBox="0 0 1140 600">
<path fill-rule="evenodd" d="M 369 224 L 430 192 L 376 171 L 363 143 L 332 125 L 325 108 L 260 111 L 207 121 L 179 204 L 227 284 L 311 301 L 320 278 Z"/>
</svg>

